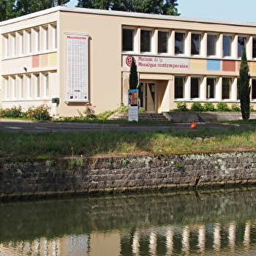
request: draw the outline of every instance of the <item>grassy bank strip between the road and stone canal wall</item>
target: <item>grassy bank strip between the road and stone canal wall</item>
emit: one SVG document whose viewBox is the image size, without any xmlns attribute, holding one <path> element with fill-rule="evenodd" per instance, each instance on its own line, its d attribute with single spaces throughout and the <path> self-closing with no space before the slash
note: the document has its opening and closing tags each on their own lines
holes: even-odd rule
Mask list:
<svg viewBox="0 0 256 256">
<path fill-rule="evenodd" d="M 254 129 L 155 132 L 4 132 L 0 157 L 43 158 L 95 154 L 185 154 L 255 151 Z"/>
</svg>

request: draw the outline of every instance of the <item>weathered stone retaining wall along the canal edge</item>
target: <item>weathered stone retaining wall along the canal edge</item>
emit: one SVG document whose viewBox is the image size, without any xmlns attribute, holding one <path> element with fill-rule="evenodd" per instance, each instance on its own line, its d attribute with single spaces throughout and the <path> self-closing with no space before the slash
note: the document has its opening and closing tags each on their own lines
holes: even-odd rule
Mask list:
<svg viewBox="0 0 256 256">
<path fill-rule="evenodd" d="M 0 199 L 256 184 L 256 153 L 1 160 Z"/>
</svg>

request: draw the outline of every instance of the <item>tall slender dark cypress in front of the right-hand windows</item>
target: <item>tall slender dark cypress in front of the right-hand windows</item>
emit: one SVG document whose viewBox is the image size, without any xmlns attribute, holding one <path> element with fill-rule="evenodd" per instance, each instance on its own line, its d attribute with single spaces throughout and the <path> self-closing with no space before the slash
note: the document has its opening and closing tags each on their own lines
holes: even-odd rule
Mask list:
<svg viewBox="0 0 256 256">
<path fill-rule="evenodd" d="M 249 119 L 250 114 L 250 86 L 249 86 L 249 66 L 247 64 L 246 49 L 243 48 L 241 55 L 241 65 L 239 70 L 240 79 L 238 82 L 238 94 L 241 105 L 242 118 Z"/>
</svg>

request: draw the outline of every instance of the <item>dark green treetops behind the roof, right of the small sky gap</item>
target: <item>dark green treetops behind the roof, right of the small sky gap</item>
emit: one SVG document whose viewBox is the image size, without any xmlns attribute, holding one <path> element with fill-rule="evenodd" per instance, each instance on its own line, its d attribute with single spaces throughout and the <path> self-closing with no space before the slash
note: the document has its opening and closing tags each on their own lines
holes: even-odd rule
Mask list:
<svg viewBox="0 0 256 256">
<path fill-rule="evenodd" d="M 179 15 L 178 0 L 78 0 L 77 7 Z"/>
</svg>

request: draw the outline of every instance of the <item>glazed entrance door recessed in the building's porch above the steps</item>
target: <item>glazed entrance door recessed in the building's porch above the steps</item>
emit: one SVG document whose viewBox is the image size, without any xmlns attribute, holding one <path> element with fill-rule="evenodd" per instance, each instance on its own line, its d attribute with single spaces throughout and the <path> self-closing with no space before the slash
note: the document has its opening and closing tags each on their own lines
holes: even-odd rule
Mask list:
<svg viewBox="0 0 256 256">
<path fill-rule="evenodd" d="M 147 112 L 156 112 L 155 83 L 140 83 L 140 107 Z"/>
</svg>

